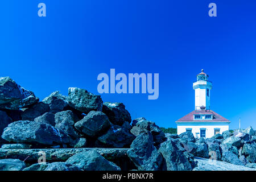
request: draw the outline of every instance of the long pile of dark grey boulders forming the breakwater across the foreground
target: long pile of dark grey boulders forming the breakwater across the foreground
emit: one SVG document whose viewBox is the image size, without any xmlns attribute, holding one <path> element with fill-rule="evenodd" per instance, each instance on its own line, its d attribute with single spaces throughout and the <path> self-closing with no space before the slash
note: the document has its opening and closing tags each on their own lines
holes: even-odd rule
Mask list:
<svg viewBox="0 0 256 182">
<path fill-rule="evenodd" d="M 9 77 L 0 77 L 0 136 L 0 170 L 190 171 L 200 169 L 195 156 L 255 167 L 251 128 L 206 140 L 168 135 L 87 90 L 69 88 L 68 96 L 56 91 L 39 101 Z"/>
</svg>

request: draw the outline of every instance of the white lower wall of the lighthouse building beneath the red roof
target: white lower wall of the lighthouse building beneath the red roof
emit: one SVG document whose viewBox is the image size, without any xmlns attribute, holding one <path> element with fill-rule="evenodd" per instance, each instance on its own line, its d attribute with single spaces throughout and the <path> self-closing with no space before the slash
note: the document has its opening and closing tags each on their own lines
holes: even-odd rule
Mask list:
<svg viewBox="0 0 256 182">
<path fill-rule="evenodd" d="M 223 131 L 229 130 L 229 123 L 196 123 L 196 122 L 188 122 L 188 123 L 177 123 L 177 134 L 181 134 L 186 131 L 186 129 L 192 129 L 192 133 L 194 137 L 196 138 L 196 133 L 199 133 L 199 138 L 200 138 L 200 129 L 205 128 L 205 134 L 206 138 L 213 137 L 214 135 L 214 129 L 219 128 L 220 129 L 220 134 L 222 134 Z"/>
</svg>

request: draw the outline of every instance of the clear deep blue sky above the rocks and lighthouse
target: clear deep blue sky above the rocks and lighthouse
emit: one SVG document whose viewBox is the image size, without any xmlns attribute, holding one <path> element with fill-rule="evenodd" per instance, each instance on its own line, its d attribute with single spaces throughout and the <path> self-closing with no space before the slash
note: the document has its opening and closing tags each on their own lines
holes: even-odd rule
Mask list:
<svg viewBox="0 0 256 182">
<path fill-rule="evenodd" d="M 47 6 L 39 18 L 38 3 Z M 210 2 L 217 17 L 208 16 Z M 194 109 L 192 82 L 203 68 L 213 82 L 211 109 L 230 128 L 256 128 L 256 1 L 31 0 L 0 4 L 0 75 L 41 100 L 77 86 L 97 94 L 97 76 L 159 73 L 159 98 L 102 94 L 132 118 L 163 127 Z"/>
</svg>

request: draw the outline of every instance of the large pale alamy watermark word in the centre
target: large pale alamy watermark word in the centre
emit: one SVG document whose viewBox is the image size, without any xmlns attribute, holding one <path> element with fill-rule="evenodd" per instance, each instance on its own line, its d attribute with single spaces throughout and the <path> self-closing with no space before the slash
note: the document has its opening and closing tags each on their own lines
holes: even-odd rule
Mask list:
<svg viewBox="0 0 256 182">
<path fill-rule="evenodd" d="M 110 69 L 110 77 L 106 73 L 100 73 L 97 80 L 98 93 L 148 93 L 148 100 L 156 100 L 159 97 L 159 73 L 154 73 L 154 88 L 152 85 L 152 73 L 129 73 L 128 78 L 125 73 L 115 75 L 115 69 Z M 128 84 L 127 84 L 128 80 Z M 118 81 L 116 83 L 116 81 Z M 110 89 L 109 89 L 110 88 Z"/>
</svg>

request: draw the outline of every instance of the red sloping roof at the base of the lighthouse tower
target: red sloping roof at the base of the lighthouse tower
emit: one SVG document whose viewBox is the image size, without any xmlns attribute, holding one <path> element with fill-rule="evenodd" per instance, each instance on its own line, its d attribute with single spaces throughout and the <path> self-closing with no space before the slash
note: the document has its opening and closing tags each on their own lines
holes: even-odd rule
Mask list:
<svg viewBox="0 0 256 182">
<path fill-rule="evenodd" d="M 205 115 L 213 115 L 213 119 L 204 119 L 204 120 L 194 120 L 194 114 L 205 114 Z M 184 117 L 178 119 L 176 123 L 185 123 L 185 122 L 228 122 L 230 121 L 220 114 L 215 113 L 212 110 L 205 110 L 205 111 L 195 111 L 193 110 L 191 113 L 188 113 Z"/>
</svg>

